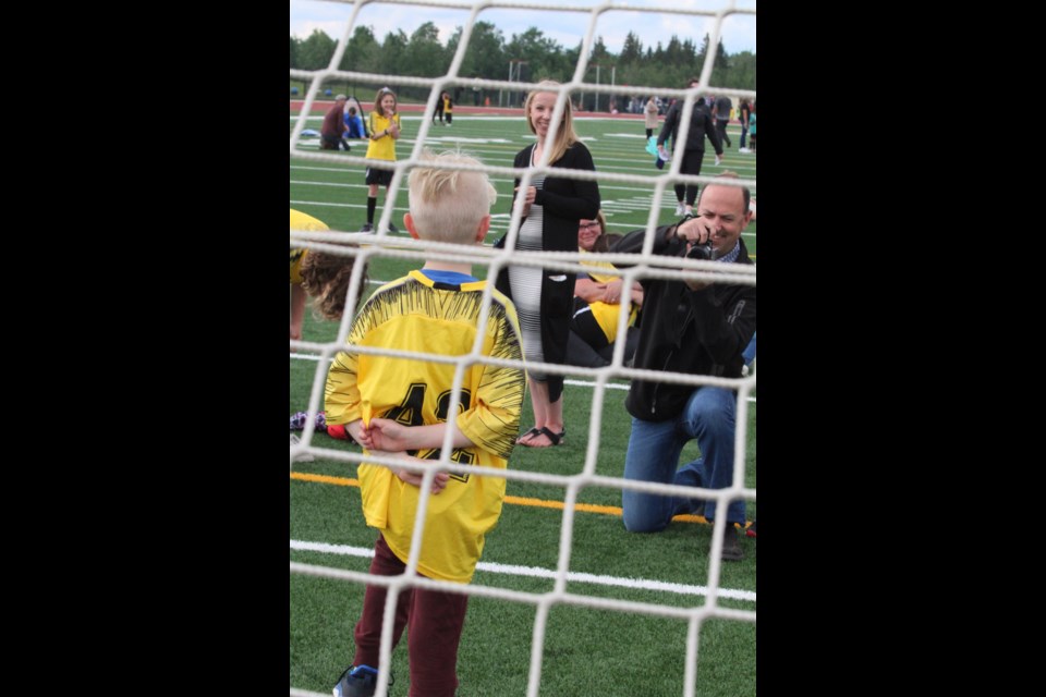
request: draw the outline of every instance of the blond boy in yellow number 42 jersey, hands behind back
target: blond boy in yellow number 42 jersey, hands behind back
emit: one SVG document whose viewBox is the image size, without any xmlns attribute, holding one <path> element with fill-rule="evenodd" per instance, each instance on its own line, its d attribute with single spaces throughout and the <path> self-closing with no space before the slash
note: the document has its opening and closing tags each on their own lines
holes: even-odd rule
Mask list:
<svg viewBox="0 0 1046 697">
<path fill-rule="evenodd" d="M 478 160 L 429 151 L 422 159 L 409 178 L 410 212 L 403 216 L 411 236 L 482 244 L 497 197 L 487 175 L 435 168 Z M 477 345 L 483 356 L 522 360 L 515 306 L 491 289 L 490 306 L 481 315 L 487 282 L 471 273 L 469 262 L 429 260 L 379 288 L 360 309 L 348 348 L 335 357 L 327 374 L 327 423 L 344 424 L 365 454 L 397 456 L 413 465 L 408 469 L 362 463 L 357 469 L 364 517 L 379 531 L 370 564 L 374 575 L 403 573 L 422 496 L 428 502 L 417 570 L 427 578 L 470 583 L 484 537 L 501 514 L 504 479 L 440 472 L 430 491 L 423 492 L 418 470 L 439 460 L 447 429 L 452 462 L 506 468 L 520 426 L 522 367 L 471 364 L 451 414 L 455 365 L 354 351 L 373 346 L 463 356 Z M 374 694 L 385 599 L 382 586 L 367 586 L 354 632 L 355 656 L 335 686 L 336 697 Z M 465 595 L 424 588 L 400 594 L 392 643 L 410 627 L 411 695 L 454 695 L 467 600 Z"/>
</svg>

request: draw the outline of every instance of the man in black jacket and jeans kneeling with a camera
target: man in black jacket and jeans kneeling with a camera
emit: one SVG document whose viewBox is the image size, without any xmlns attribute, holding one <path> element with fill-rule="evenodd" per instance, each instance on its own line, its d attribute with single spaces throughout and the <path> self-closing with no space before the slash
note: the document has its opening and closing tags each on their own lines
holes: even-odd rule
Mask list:
<svg viewBox="0 0 1046 697">
<path fill-rule="evenodd" d="M 737 174 L 722 176 L 737 179 Z M 752 264 L 741 240 L 749 224 L 747 188 L 709 184 L 701 192 L 696 217 L 658 228 L 654 254 Z M 643 230 L 621 239 L 611 252 L 638 253 Z M 755 333 L 755 286 L 698 281 L 641 279 L 644 303 L 635 368 L 689 375 L 740 378 L 742 352 Z M 734 390 L 658 380 L 633 380 L 625 408 L 632 432 L 624 478 L 705 489 L 733 484 Z M 683 447 L 697 440 L 701 456 L 679 466 Z M 666 497 L 624 490 L 624 526 L 634 533 L 665 529 L 673 515 L 692 513 L 709 522 L 726 516 L 722 559 L 744 557 L 734 523 L 745 522 L 744 500 L 734 499 L 726 513 L 715 501 Z"/>
</svg>

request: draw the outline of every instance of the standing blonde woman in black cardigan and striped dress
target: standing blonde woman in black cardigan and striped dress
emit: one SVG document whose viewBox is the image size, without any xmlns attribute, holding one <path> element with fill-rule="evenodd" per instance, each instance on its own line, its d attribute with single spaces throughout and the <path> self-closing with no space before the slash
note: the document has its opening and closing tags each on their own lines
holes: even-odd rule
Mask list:
<svg viewBox="0 0 1046 697">
<path fill-rule="evenodd" d="M 570 99 L 556 139 L 547 138 L 557 93 L 542 91 L 559 83 L 545 81 L 526 97 L 524 112 L 537 143 L 515 156 L 514 167 L 536 166 L 545 150 L 554 169 L 595 171 L 592 154 L 574 133 Z M 569 97 L 569 96 L 568 96 Z M 515 205 L 523 207 L 523 222 L 516 239 L 520 250 L 577 250 L 577 225 L 582 218 L 599 212 L 599 185 L 595 181 L 563 179 L 555 174 L 535 175 L 525 191 L 515 180 Z M 536 267 L 507 267 L 498 274 L 497 288 L 515 303 L 523 330 L 523 352 L 528 362 L 565 363 L 567 340 L 574 294 L 573 273 Z M 528 448 L 559 445 L 563 427 L 563 376 L 527 369 L 527 384 L 534 405 L 534 427 L 516 441 Z"/>
</svg>

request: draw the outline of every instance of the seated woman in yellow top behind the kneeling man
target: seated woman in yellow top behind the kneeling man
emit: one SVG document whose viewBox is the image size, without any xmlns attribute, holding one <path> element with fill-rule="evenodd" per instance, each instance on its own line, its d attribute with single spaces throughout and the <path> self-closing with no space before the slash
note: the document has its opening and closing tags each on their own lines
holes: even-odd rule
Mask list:
<svg viewBox="0 0 1046 697">
<path fill-rule="evenodd" d="M 606 252 L 615 235 L 608 235 L 607 218 L 600 210 L 595 220 L 582 218 L 577 227 L 577 248 L 581 252 Z M 600 273 L 599 269 L 612 269 L 606 261 L 582 261 L 592 270 L 587 274 L 579 273 L 574 283 L 574 316 L 570 322 L 570 338 L 567 343 L 567 363 L 585 368 L 601 368 L 610 365 L 613 357 L 613 340 L 618 335 L 620 317 L 621 282 L 620 276 Z M 635 353 L 638 332 L 635 331 L 636 316 L 643 305 L 643 289 L 633 283 L 628 293 L 631 303 L 629 330 L 624 346 L 624 360 L 628 363 Z"/>
</svg>

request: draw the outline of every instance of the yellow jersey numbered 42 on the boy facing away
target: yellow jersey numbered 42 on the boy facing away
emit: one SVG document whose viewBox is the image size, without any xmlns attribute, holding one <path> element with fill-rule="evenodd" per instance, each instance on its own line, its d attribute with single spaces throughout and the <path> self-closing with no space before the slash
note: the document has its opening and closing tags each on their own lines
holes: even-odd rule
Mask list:
<svg viewBox="0 0 1046 697">
<path fill-rule="evenodd" d="M 352 346 L 466 355 L 476 338 L 485 286 L 486 281 L 451 285 L 411 271 L 378 289 L 352 323 L 350 348 L 339 353 L 328 370 L 327 423 L 357 418 L 369 423 L 373 417 L 412 426 L 446 421 L 453 364 L 360 354 Z M 479 353 L 523 358 L 515 306 L 497 291 Z M 508 466 L 519 433 L 524 386 L 522 368 L 475 364 L 466 369 L 455 418 L 475 447 L 455 449 L 452 461 Z M 439 450 L 409 454 L 439 458 Z M 405 562 L 421 489 L 380 465 L 361 464 L 357 475 L 367 525 L 381 530 L 389 549 Z M 471 582 L 484 536 L 501 515 L 504 488 L 504 479 L 451 474 L 447 487 L 428 500 L 418 571 L 429 578 Z"/>
</svg>

